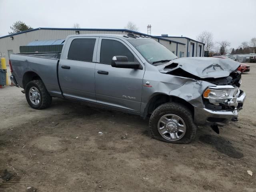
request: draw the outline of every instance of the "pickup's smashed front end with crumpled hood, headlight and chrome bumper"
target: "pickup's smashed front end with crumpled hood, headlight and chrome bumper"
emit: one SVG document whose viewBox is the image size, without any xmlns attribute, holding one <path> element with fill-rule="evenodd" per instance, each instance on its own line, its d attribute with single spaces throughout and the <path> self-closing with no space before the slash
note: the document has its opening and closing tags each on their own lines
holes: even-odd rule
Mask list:
<svg viewBox="0 0 256 192">
<path fill-rule="evenodd" d="M 216 127 L 237 118 L 242 109 L 246 94 L 239 89 L 242 77 L 238 66 L 238 62 L 221 58 L 178 58 L 158 70 L 214 84 L 202 93 L 204 108 L 194 106 L 194 122 Z"/>
</svg>

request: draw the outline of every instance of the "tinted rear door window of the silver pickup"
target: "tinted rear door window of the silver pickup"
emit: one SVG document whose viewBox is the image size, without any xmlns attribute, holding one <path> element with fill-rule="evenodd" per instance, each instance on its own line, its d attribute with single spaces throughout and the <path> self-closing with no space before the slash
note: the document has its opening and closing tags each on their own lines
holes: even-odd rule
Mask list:
<svg viewBox="0 0 256 192">
<path fill-rule="evenodd" d="M 96 39 L 74 39 L 68 50 L 68 59 L 92 61 Z"/>
</svg>

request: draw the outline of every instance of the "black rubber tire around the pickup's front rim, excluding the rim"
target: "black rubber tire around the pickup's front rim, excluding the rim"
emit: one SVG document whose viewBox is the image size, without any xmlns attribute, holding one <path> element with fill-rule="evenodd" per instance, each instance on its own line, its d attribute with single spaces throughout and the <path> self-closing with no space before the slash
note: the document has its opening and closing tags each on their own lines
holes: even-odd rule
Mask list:
<svg viewBox="0 0 256 192">
<path fill-rule="evenodd" d="M 166 114 L 174 114 L 184 120 L 186 124 L 186 132 L 180 140 L 167 140 L 158 132 L 158 121 Z M 149 120 L 149 129 L 153 138 L 157 140 L 168 143 L 188 144 L 194 139 L 197 126 L 193 122 L 191 111 L 186 106 L 176 102 L 169 102 L 158 106 L 158 108 L 154 110 Z"/>
</svg>

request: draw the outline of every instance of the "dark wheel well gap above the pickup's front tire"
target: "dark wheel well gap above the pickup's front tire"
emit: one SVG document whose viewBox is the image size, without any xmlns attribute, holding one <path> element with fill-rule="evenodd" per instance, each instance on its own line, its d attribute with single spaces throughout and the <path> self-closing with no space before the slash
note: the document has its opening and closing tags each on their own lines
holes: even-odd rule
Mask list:
<svg viewBox="0 0 256 192">
<path fill-rule="evenodd" d="M 194 107 L 189 102 L 182 98 L 178 98 L 176 96 L 169 96 L 165 94 L 158 94 L 150 99 L 149 104 L 147 105 L 146 110 L 144 112 L 144 117 L 150 116 L 158 106 L 167 102 L 176 102 L 186 106 L 192 112 L 192 116 L 194 118 Z"/>
</svg>

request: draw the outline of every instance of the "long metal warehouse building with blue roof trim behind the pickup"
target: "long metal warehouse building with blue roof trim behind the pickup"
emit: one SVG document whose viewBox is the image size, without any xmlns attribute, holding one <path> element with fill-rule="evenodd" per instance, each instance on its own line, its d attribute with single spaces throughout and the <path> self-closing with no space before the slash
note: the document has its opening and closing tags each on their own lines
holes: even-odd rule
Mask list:
<svg viewBox="0 0 256 192">
<path fill-rule="evenodd" d="M 0 57 L 4 57 L 6 60 L 9 60 L 10 54 L 20 52 L 20 46 L 29 45 L 34 41 L 65 39 L 68 35 L 73 34 L 126 35 L 128 33 L 150 36 L 154 40 L 160 42 L 178 57 L 203 56 L 204 44 L 185 37 L 151 36 L 126 29 L 36 28 L 0 37 Z M 194 50 L 192 54 L 191 50 Z"/>
</svg>

